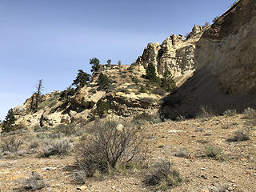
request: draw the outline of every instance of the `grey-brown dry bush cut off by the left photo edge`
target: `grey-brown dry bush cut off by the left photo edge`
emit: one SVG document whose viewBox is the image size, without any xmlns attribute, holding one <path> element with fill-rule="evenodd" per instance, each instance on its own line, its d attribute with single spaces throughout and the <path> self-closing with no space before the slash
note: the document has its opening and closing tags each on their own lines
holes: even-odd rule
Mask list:
<svg viewBox="0 0 256 192">
<path fill-rule="evenodd" d="M 2 138 L 0 148 L 3 152 L 14 153 L 17 152 L 20 146 L 22 145 L 22 140 L 16 136 L 10 136 Z"/>
</svg>

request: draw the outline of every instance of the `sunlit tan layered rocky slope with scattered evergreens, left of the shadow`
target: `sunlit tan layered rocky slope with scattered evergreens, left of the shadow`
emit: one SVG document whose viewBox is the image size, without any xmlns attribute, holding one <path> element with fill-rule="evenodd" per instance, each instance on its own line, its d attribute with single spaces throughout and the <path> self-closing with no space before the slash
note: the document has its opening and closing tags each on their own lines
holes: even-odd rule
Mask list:
<svg viewBox="0 0 256 192">
<path fill-rule="evenodd" d="M 102 66 L 100 71 L 113 81 L 108 90 L 99 89 L 98 73 L 94 74 L 92 82 L 77 90 L 74 96 L 62 98 L 61 91 L 42 95 L 37 110 L 30 110 L 32 98 L 35 97 L 33 95 L 23 106 L 14 108 L 16 124 L 32 128 L 69 124 L 79 119 L 91 121 L 97 118 L 96 104 L 101 98 L 110 106 L 107 115 L 125 118 L 143 112 L 157 113 L 162 96 L 140 92 L 146 81 L 142 78 L 142 74 L 145 74 L 143 66 Z"/>
</svg>

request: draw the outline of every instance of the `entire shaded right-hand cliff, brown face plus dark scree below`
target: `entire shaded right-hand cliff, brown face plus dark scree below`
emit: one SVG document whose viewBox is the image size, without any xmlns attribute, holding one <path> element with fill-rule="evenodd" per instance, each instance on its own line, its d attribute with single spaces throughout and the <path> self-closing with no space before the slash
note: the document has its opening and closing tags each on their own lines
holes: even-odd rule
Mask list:
<svg viewBox="0 0 256 192">
<path fill-rule="evenodd" d="M 162 113 L 194 117 L 202 106 L 215 113 L 256 107 L 256 3 L 238 1 L 208 27 L 194 50 L 194 75 L 166 98 Z"/>
</svg>

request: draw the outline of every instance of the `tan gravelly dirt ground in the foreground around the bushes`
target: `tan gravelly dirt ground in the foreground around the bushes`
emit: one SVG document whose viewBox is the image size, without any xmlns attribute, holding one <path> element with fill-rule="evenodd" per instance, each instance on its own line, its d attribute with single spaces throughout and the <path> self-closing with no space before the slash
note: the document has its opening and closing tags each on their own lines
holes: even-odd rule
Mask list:
<svg viewBox="0 0 256 192">
<path fill-rule="evenodd" d="M 234 131 L 245 128 L 250 140 L 226 141 Z M 148 123 L 142 129 L 147 158 L 166 158 L 181 174 L 182 183 L 167 191 L 256 191 L 256 130 L 242 114 Z M 207 157 L 206 146 L 210 145 L 222 149 L 222 161 Z M 177 157 L 181 151 L 186 151 L 186 157 Z M 32 171 L 46 181 L 46 187 L 39 191 L 154 191 L 142 183 L 146 170 L 89 178 L 81 186 L 72 182 L 69 170 L 74 155 L 38 158 L 37 152 L 0 156 L 0 191 L 19 191 L 20 178 Z"/>
</svg>

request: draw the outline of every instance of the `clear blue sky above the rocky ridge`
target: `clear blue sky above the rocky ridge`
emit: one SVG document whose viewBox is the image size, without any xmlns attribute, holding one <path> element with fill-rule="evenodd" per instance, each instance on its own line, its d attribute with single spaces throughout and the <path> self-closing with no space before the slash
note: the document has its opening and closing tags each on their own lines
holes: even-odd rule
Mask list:
<svg viewBox="0 0 256 192">
<path fill-rule="evenodd" d="M 44 80 L 64 90 L 90 58 L 134 62 L 148 42 L 211 22 L 234 0 L 0 0 L 0 119 Z"/>
</svg>

